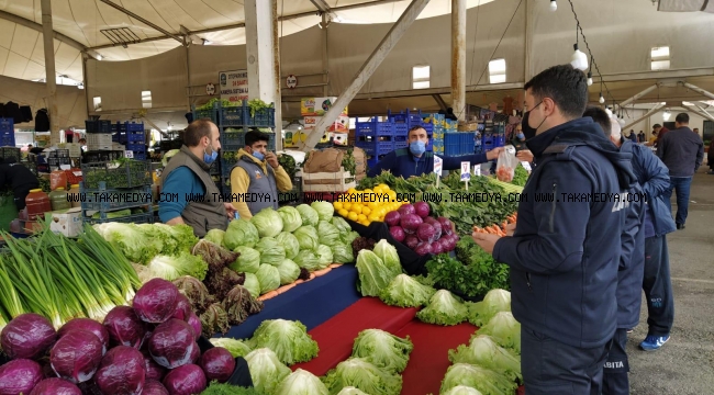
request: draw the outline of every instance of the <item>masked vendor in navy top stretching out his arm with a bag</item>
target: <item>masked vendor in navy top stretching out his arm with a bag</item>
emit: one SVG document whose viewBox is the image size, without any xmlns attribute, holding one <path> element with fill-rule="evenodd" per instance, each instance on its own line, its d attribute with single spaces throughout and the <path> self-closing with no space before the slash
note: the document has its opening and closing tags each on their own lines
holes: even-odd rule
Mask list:
<svg viewBox="0 0 714 395">
<path fill-rule="evenodd" d="M 395 149 L 387 154 L 375 168 L 369 169 L 369 177 L 377 177 L 383 170 L 391 171 L 394 177 L 405 179 L 415 176 L 428 174 L 434 171 L 434 154 L 426 151 L 428 136 L 426 131 L 421 126 L 414 126 L 409 131 L 409 148 Z M 459 157 L 443 156 L 444 170 L 458 170 L 461 168 L 461 161 L 469 161 L 471 166 L 494 160 L 503 147 L 494 148 L 486 154 L 464 155 Z"/>
</svg>

